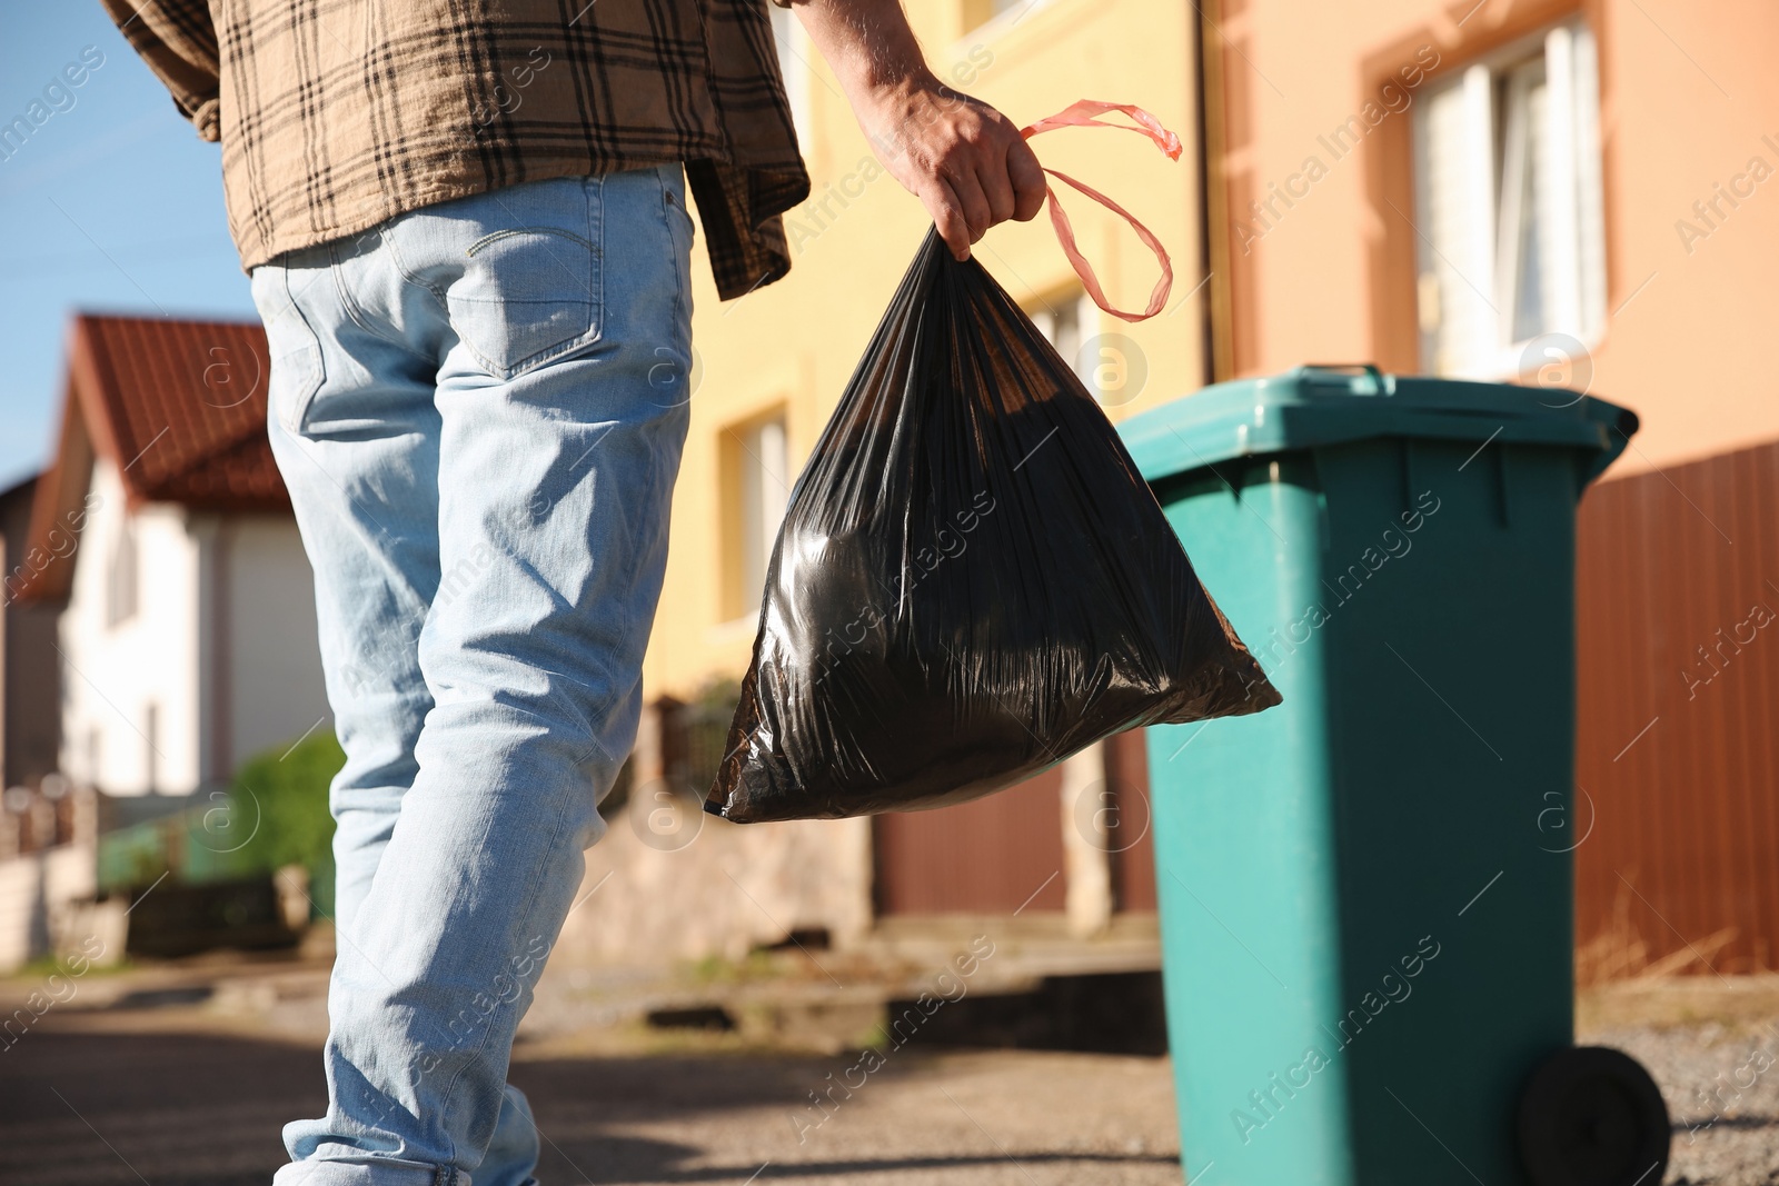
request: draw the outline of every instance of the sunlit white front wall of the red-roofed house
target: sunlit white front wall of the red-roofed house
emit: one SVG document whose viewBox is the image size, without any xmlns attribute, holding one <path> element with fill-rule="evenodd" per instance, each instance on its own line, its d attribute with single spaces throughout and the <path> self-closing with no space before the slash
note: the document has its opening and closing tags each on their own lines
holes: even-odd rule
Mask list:
<svg viewBox="0 0 1779 1186">
<path fill-rule="evenodd" d="M 142 795 L 151 786 L 192 791 L 203 777 L 192 613 L 197 548 L 178 507 L 142 507 L 133 516 L 135 613 L 107 624 L 107 576 L 125 530 L 125 491 L 105 459 L 94 464 L 87 507 L 59 629 L 62 770 L 112 795 Z"/>
</svg>

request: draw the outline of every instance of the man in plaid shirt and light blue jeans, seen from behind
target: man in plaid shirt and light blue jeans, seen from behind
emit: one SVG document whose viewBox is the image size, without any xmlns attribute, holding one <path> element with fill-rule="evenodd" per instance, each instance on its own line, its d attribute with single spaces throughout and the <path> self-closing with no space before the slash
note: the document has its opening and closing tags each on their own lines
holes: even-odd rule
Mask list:
<svg viewBox="0 0 1779 1186">
<path fill-rule="evenodd" d="M 222 146 L 347 754 L 329 1106 L 281 1186 L 534 1181 L 507 1063 L 640 711 L 685 194 L 729 299 L 809 192 L 763 2 L 105 0 Z M 957 258 L 1037 213 L 898 0 L 781 2 Z"/>
</svg>

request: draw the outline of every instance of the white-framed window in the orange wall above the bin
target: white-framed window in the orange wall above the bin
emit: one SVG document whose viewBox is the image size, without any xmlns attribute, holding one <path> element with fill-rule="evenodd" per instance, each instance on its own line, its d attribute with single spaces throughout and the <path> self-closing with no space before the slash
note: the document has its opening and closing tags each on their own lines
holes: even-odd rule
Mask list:
<svg viewBox="0 0 1779 1186">
<path fill-rule="evenodd" d="M 1514 377 L 1605 320 L 1599 80 L 1580 21 L 1429 91 L 1414 123 L 1421 365 Z"/>
</svg>

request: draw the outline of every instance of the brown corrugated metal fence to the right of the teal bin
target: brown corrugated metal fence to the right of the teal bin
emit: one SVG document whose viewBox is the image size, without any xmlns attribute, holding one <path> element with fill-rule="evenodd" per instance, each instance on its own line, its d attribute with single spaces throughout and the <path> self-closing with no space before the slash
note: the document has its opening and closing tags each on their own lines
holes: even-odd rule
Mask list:
<svg viewBox="0 0 1779 1186">
<path fill-rule="evenodd" d="M 1774 967 L 1779 443 L 1587 494 L 1576 658 L 1582 978 Z"/>
</svg>

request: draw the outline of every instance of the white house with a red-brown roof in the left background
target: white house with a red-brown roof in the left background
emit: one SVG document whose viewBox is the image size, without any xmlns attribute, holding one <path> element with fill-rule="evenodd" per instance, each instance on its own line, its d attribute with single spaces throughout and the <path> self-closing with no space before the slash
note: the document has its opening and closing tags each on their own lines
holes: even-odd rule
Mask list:
<svg viewBox="0 0 1779 1186">
<path fill-rule="evenodd" d="M 265 370 L 253 324 L 73 322 L 55 453 L 7 592 L 64 603 L 50 677 L 59 766 L 80 786 L 190 795 L 327 717 Z"/>
</svg>

